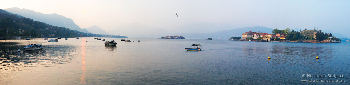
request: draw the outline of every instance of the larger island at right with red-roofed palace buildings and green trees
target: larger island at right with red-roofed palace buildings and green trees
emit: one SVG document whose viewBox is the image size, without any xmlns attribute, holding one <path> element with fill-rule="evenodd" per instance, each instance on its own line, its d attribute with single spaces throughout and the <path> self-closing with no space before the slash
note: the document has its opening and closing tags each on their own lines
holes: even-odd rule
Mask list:
<svg viewBox="0 0 350 85">
<path fill-rule="evenodd" d="M 342 43 L 332 34 L 323 33 L 318 29 L 304 29 L 294 31 L 274 29 L 273 34 L 248 31 L 242 34 L 240 41 L 265 41 L 265 42 L 308 42 L 308 43 Z"/>
</svg>

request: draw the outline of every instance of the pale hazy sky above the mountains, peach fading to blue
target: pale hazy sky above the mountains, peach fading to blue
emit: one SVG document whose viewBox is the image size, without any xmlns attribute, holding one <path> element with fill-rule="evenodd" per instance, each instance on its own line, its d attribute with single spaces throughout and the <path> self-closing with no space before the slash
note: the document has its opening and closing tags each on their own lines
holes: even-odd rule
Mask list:
<svg viewBox="0 0 350 85">
<path fill-rule="evenodd" d="M 209 22 L 273 29 L 318 27 L 350 37 L 350 0 L 1 1 L 0 9 L 12 7 L 44 14 L 57 13 L 73 19 L 80 28 L 97 25 L 110 30 L 121 23 L 139 22 L 169 30 L 186 23 Z"/>
</svg>

